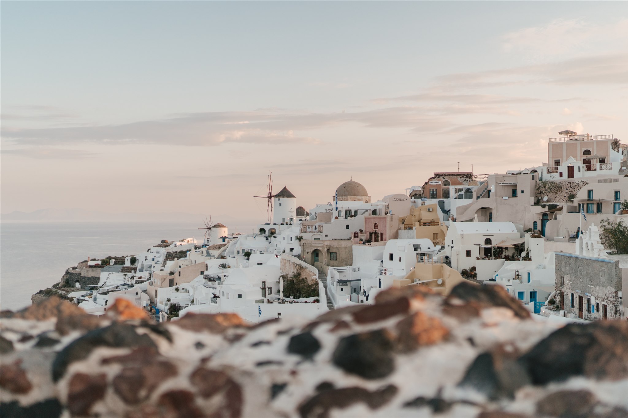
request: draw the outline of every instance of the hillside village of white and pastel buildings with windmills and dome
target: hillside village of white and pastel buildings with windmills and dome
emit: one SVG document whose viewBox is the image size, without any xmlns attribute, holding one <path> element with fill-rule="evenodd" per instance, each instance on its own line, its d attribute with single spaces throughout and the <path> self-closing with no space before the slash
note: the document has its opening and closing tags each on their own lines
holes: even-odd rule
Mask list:
<svg viewBox="0 0 628 418">
<path fill-rule="evenodd" d="M 542 321 L 626 318 L 628 254 L 612 228 L 628 227 L 628 146 L 565 130 L 547 147 L 537 167 L 435 172 L 377 200 L 351 179 L 306 209 L 287 184 L 269 194 L 271 218 L 253 234 L 218 222 L 202 242 L 87 260 L 63 281 L 88 313 L 124 298 L 158 321 L 190 312 L 311 319 L 374 303 L 387 288 L 448 295 L 463 281 L 506 288 Z"/>
</svg>

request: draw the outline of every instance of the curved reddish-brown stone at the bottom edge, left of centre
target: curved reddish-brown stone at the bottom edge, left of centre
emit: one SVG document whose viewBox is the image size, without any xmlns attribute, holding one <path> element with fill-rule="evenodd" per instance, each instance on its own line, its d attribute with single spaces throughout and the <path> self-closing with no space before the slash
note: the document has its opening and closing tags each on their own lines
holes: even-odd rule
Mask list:
<svg viewBox="0 0 628 418">
<path fill-rule="evenodd" d="M 212 416 L 236 418 L 242 414 L 242 388 L 221 370 L 199 367 L 190 375 L 190 382 L 203 398 L 220 394 L 222 401 Z"/>
</svg>

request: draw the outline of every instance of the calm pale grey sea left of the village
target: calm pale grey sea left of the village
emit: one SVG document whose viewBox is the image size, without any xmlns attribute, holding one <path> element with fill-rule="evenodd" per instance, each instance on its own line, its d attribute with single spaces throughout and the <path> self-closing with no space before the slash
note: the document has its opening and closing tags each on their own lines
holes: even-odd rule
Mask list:
<svg viewBox="0 0 628 418">
<path fill-rule="evenodd" d="M 162 239 L 202 241 L 198 223 L 11 222 L 0 224 L 0 310 L 19 310 L 31 295 L 90 258 L 146 251 Z"/>
</svg>

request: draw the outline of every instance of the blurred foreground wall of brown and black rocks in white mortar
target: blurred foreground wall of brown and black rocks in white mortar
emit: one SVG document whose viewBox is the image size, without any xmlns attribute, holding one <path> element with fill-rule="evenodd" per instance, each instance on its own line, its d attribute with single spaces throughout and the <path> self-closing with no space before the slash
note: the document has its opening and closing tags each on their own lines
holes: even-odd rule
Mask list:
<svg viewBox="0 0 628 418">
<path fill-rule="evenodd" d="M 49 298 L 0 313 L 0 353 L 3 417 L 628 415 L 627 323 L 557 328 L 467 283 L 254 327 Z"/>
</svg>

